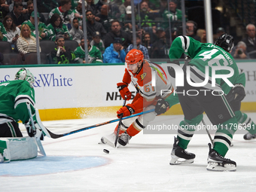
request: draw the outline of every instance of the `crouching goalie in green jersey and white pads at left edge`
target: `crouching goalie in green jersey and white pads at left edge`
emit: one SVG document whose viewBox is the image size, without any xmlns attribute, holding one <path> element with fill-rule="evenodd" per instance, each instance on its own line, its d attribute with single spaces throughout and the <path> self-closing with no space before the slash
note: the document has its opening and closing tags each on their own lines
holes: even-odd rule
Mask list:
<svg viewBox="0 0 256 192">
<path fill-rule="evenodd" d="M 37 157 L 38 147 L 44 153 L 39 146 L 43 135 L 35 118 L 34 82 L 32 73 L 22 68 L 14 81 L 0 84 L 0 163 Z M 19 120 L 26 126 L 29 137 L 23 137 Z"/>
</svg>

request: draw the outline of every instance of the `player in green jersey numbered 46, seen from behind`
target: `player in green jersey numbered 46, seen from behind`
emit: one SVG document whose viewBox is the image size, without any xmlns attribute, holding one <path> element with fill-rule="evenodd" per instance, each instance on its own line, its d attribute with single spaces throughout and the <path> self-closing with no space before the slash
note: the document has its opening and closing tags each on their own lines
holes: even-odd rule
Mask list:
<svg viewBox="0 0 256 192">
<path fill-rule="evenodd" d="M 188 153 L 185 149 L 194 135 L 197 124 L 203 119 L 203 111 L 205 111 L 212 124 L 218 126 L 213 148 L 209 145 L 207 169 L 236 171 L 236 162 L 224 158 L 230 148 L 233 134 L 236 132 L 235 126 L 238 123 L 224 93 L 231 91 L 235 96 L 234 100 L 241 101 L 245 96 L 245 90 L 241 84 L 236 84 L 239 70 L 229 53 L 232 47 L 233 37 L 227 34 L 221 35 L 215 45 L 202 44 L 187 36 L 179 36 L 172 42 L 169 50 L 171 62 L 178 64 L 175 61 L 182 53 L 186 53 L 192 59 L 184 67 L 184 77 L 175 74 L 176 79 L 184 80 L 184 86 L 178 86 L 176 90 L 184 112 L 184 120 L 180 123 L 178 138 L 175 138 L 170 164 L 194 162 L 195 154 Z M 232 69 L 233 75 L 228 75 Z M 211 72 L 215 72 L 219 78 L 215 79 Z M 231 87 L 229 83 L 235 86 Z M 198 94 L 193 94 L 194 96 L 187 94 L 191 90 Z M 185 161 L 179 161 L 181 158 Z"/>
</svg>

